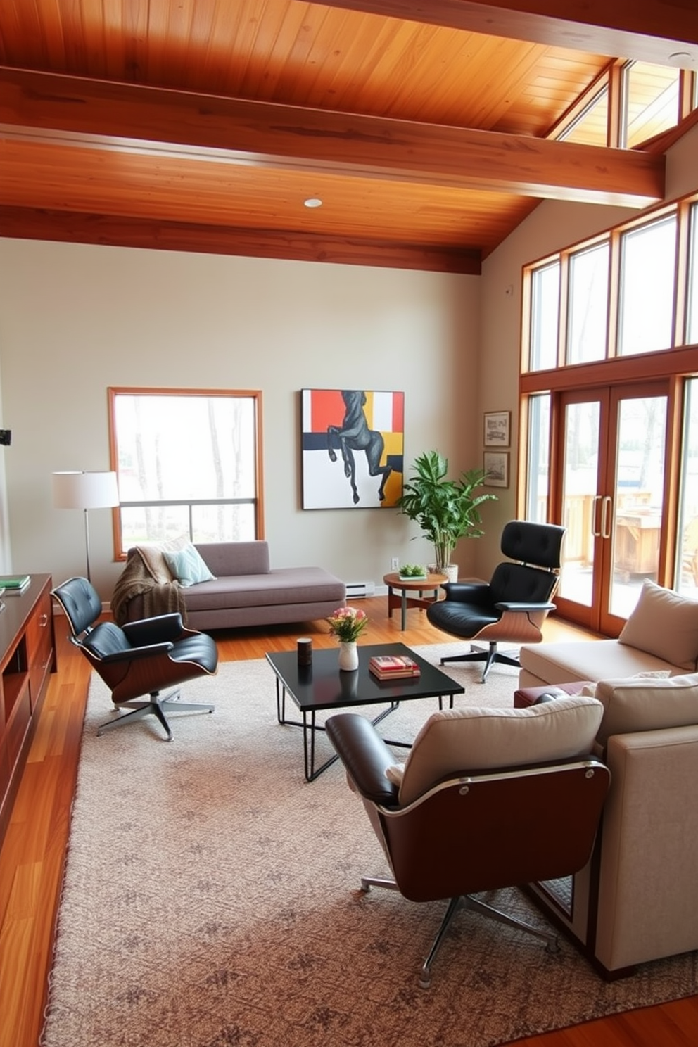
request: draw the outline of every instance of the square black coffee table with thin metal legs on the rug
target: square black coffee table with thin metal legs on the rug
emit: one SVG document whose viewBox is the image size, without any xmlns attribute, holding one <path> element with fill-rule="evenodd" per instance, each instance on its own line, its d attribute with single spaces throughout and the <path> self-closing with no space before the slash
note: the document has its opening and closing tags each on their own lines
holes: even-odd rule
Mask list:
<svg viewBox="0 0 698 1047">
<path fill-rule="evenodd" d="M 296 651 L 266 654 L 276 676 L 276 718 L 279 723 L 301 727 L 303 731 L 306 781 L 314 781 L 337 759 L 335 754 L 319 767 L 315 766 L 315 734 L 317 731 L 324 731 L 324 727 L 316 722 L 316 713 L 388 703 L 388 708 L 371 720 L 373 723 L 378 723 L 393 712 L 401 701 L 438 698 L 438 708 L 442 709 L 444 697 L 448 697 L 452 709 L 453 696 L 465 692 L 465 687 L 456 684 L 430 662 L 425 662 L 405 644 L 360 644 L 358 650 L 359 668 L 351 672 L 339 668 L 338 647 L 313 651 L 313 662 L 309 666 L 298 665 Z M 368 671 L 368 660 L 374 654 L 407 654 L 419 664 L 421 675 L 378 680 Z M 302 713 L 302 720 L 286 718 L 287 693 Z M 407 749 L 410 745 L 409 742 L 400 741 L 390 741 L 389 744 Z"/>
</svg>

